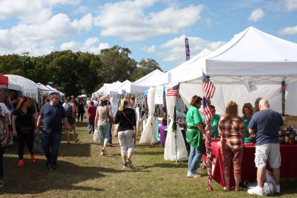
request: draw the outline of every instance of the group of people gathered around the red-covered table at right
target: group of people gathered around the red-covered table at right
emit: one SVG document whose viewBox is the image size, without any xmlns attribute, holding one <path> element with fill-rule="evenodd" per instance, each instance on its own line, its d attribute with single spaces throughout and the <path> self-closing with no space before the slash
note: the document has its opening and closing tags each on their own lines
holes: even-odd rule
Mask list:
<svg viewBox="0 0 297 198">
<path fill-rule="evenodd" d="M 202 98 L 193 96 L 187 112 L 186 140 L 191 146 L 187 177 L 198 178 L 198 165 L 204 153 L 205 121 L 198 109 L 202 105 Z M 281 153 L 279 131 L 282 131 L 284 122 L 281 114 L 269 109 L 267 99 L 258 98 L 253 108 L 245 103 L 242 108 L 243 116 L 238 116 L 238 105 L 229 101 L 225 108 L 225 115 L 215 115 L 215 107 L 211 106 L 211 136 L 219 137 L 223 159 L 223 175 L 226 182 L 225 191 L 230 190 L 231 166 L 235 179 L 235 190 L 240 191 L 241 163 L 243 159 L 243 145 L 255 142 L 255 166 L 257 167 L 258 186 L 249 189 L 249 194 L 264 195 L 264 170 L 269 162 L 276 184 L 276 193 L 280 193 L 280 166 Z"/>
</svg>

